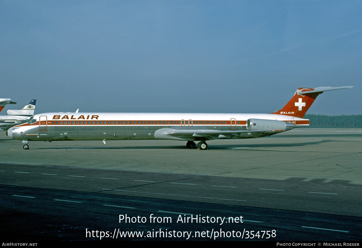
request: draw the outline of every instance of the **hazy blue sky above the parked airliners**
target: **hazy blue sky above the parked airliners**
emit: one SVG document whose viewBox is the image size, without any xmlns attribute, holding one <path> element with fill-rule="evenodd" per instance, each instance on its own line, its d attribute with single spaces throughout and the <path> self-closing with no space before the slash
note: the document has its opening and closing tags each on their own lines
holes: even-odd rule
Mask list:
<svg viewBox="0 0 362 248">
<path fill-rule="evenodd" d="M 362 114 L 362 1 L 2 1 L 0 98 L 35 113 Z M 1 112 L 1 114 L 4 114 Z M 6 112 L 5 112 L 6 113 Z"/>
</svg>

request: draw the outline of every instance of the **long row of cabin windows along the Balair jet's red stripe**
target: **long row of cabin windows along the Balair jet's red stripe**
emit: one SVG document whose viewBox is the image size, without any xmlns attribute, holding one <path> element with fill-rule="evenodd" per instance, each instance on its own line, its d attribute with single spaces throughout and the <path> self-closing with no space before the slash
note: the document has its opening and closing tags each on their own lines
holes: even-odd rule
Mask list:
<svg viewBox="0 0 362 248">
<path fill-rule="evenodd" d="M 88 121 L 88 124 L 181 124 L 180 121 Z M 56 124 L 63 124 L 63 121 L 56 121 Z M 55 124 L 53 121 L 52 124 Z M 64 121 L 64 124 L 87 124 L 87 121 Z M 182 121 L 182 124 L 189 124 L 189 121 Z M 193 124 L 216 124 L 216 121 L 193 121 Z M 226 121 L 217 121 L 217 124 L 226 124 Z M 240 124 L 240 121 L 237 122 Z"/>
</svg>

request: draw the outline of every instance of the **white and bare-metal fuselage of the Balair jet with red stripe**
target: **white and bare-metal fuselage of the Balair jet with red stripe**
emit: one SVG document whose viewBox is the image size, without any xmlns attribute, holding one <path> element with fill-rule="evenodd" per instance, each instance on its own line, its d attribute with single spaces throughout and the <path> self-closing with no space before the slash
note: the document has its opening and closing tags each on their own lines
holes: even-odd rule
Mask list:
<svg viewBox="0 0 362 248">
<path fill-rule="evenodd" d="M 280 132 L 247 133 L 248 119 L 278 120 L 294 124 L 292 128 L 309 125 L 309 120 L 277 114 L 207 114 L 207 113 L 45 113 L 34 115 L 27 123 L 10 128 L 8 136 L 18 140 L 119 140 L 172 139 L 185 141 L 210 140 L 211 136 L 155 136 L 157 130 L 190 132 L 219 131 L 214 138 L 256 138 Z M 269 130 L 269 129 L 268 129 Z M 288 129 L 290 130 L 290 129 Z M 237 133 L 240 131 L 240 133 Z M 284 130 L 285 131 L 285 130 Z M 233 132 L 224 135 L 223 132 Z M 241 133 L 243 132 L 243 133 Z"/>
</svg>

